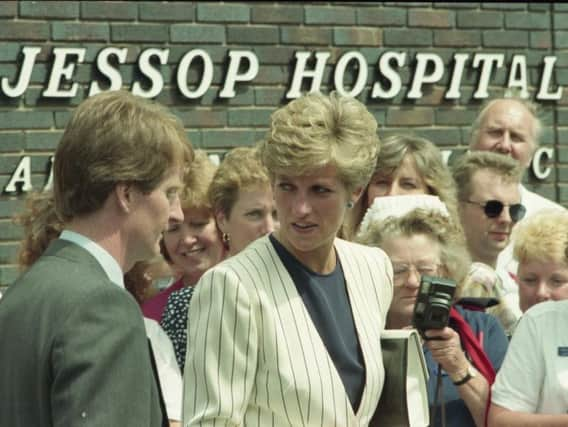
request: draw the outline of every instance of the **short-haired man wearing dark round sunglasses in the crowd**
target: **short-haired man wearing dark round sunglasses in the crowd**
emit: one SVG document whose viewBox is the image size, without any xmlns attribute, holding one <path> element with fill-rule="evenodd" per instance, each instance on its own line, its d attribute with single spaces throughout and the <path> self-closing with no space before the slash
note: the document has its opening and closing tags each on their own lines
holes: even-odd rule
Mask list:
<svg viewBox="0 0 568 427">
<path fill-rule="evenodd" d="M 513 226 L 526 213 L 519 189 L 522 171 L 510 157 L 484 151 L 462 156 L 452 168 L 459 215 L 472 260 L 496 270 L 505 304 L 516 317 L 521 315 L 518 288 L 508 271 L 497 267 L 497 257 L 509 244 Z"/>
</svg>

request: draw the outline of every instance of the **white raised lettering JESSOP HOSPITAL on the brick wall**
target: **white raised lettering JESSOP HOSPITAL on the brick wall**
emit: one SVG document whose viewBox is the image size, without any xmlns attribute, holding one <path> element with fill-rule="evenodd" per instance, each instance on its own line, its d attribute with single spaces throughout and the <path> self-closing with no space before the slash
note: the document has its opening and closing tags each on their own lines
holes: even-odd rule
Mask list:
<svg viewBox="0 0 568 427">
<path fill-rule="evenodd" d="M 7 97 L 17 98 L 22 96 L 29 87 L 33 67 L 41 48 L 37 46 L 24 46 L 21 51 L 22 59 L 17 78 L 10 81 L 5 76 L 0 76 L 0 92 Z M 84 47 L 54 47 L 52 50 L 53 64 L 47 79 L 47 86 L 41 96 L 45 98 L 73 98 L 79 84 L 73 81 L 77 65 L 85 60 L 86 48 Z M 102 48 L 93 63 L 98 74 L 104 77 L 104 83 L 93 80 L 88 86 L 88 96 L 92 96 L 102 90 L 120 89 L 123 85 L 120 73 L 120 64 L 125 64 L 128 48 L 107 46 Z M 147 98 L 153 98 L 160 94 L 164 88 L 164 77 L 155 66 L 172 65 L 168 63 L 169 48 L 146 48 L 141 51 L 137 59 L 140 70 L 140 80 L 132 83 L 131 91 Z M 222 79 L 218 93 L 219 98 L 232 98 L 235 96 L 235 86 L 239 83 L 254 83 L 258 75 L 259 60 L 257 55 L 250 50 L 228 50 L 228 66 Z M 323 83 L 324 70 L 331 56 L 328 51 L 299 50 L 294 54 L 294 68 L 290 87 L 285 93 L 287 99 L 297 98 L 303 90 L 304 81 L 311 81 L 310 91 L 318 90 Z M 553 86 L 554 66 L 556 56 L 543 56 L 539 81 L 530 82 L 526 55 L 513 55 L 510 64 L 505 64 L 503 53 L 454 53 L 452 57 L 453 67 L 449 78 L 449 84 L 444 94 L 444 99 L 455 100 L 461 96 L 460 88 L 466 66 L 479 71 L 477 86 L 473 92 L 474 99 L 484 99 L 489 96 L 488 87 L 491 84 L 491 76 L 497 69 L 507 67 L 507 87 L 519 90 L 521 96 L 528 97 L 528 88 L 537 88 L 535 98 L 542 101 L 555 101 L 562 97 L 562 87 Z M 412 62 L 412 67 L 410 66 Z M 385 51 L 377 61 L 377 81 L 372 82 L 369 94 L 370 99 L 392 99 L 402 89 L 402 80 L 399 70 L 410 67 L 413 74 L 409 83 L 406 99 L 419 99 L 422 97 L 425 84 L 438 83 L 446 73 L 446 67 L 442 58 L 435 53 L 417 53 L 410 58 L 406 52 Z M 191 67 L 198 68 L 198 80 L 188 82 L 188 73 Z M 448 67 L 449 68 L 449 67 Z M 346 72 L 353 75 L 352 83 L 346 84 L 344 77 Z M 180 93 L 188 99 L 202 97 L 213 82 L 213 61 L 206 50 L 188 50 L 177 64 L 175 82 Z M 356 50 L 343 53 L 334 66 L 333 89 L 349 95 L 360 95 L 365 86 L 369 84 L 369 64 L 365 56 Z M 102 86 L 101 86 L 102 83 Z M 531 84 L 532 83 L 532 84 Z"/>
</svg>

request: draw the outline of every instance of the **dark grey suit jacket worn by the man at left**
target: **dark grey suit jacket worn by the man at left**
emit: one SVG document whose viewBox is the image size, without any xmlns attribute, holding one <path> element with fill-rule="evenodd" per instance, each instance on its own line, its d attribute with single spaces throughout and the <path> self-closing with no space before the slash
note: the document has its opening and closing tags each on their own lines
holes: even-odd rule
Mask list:
<svg viewBox="0 0 568 427">
<path fill-rule="evenodd" d="M 0 299 L 0 426 L 160 426 L 140 309 L 65 240 Z"/>
</svg>

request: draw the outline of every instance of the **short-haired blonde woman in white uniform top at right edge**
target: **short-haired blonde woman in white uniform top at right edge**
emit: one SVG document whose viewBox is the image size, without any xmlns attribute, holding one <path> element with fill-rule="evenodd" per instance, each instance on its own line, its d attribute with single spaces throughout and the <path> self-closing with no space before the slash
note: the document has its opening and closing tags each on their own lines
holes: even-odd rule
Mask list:
<svg viewBox="0 0 568 427">
<path fill-rule="evenodd" d="M 568 425 L 568 213 L 543 210 L 514 234 L 520 308 L 492 394 L 492 426 Z M 555 301 L 555 302 L 553 302 Z M 556 302 L 558 301 L 558 302 Z"/>
</svg>

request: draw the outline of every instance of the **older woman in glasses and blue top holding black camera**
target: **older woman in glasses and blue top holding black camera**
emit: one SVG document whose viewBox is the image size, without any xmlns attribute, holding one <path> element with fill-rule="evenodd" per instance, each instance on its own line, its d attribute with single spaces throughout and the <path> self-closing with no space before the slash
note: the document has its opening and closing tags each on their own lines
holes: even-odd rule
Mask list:
<svg viewBox="0 0 568 427">
<path fill-rule="evenodd" d="M 470 259 L 459 227 L 447 214 L 415 209 L 389 216 L 369 224 L 358 241 L 382 248 L 393 264 L 387 329 L 411 327 L 422 276 L 453 279 L 455 299 L 460 297 Z M 425 340 L 423 346 L 430 374 L 430 425 L 443 425 L 444 412 L 446 426 L 484 426 L 490 387 L 507 350 L 503 328 L 491 315 L 454 305 L 449 326 L 425 335 L 438 338 Z"/>
</svg>

